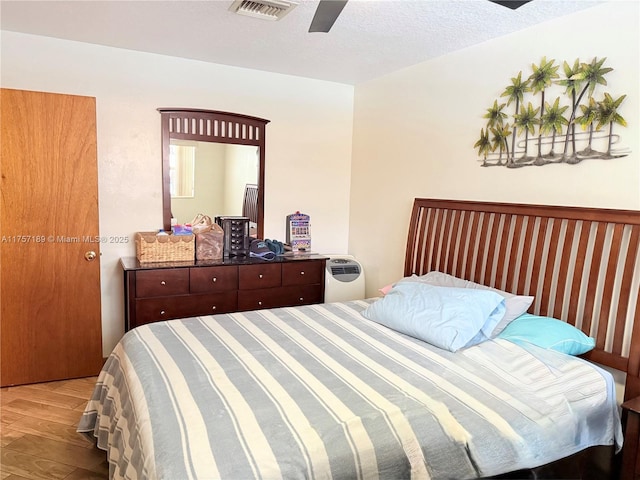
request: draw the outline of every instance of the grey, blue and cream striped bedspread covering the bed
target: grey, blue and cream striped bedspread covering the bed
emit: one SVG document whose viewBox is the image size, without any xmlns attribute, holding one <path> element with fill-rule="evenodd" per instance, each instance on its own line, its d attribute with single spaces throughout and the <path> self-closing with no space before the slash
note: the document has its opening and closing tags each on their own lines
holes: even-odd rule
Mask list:
<svg viewBox="0 0 640 480">
<path fill-rule="evenodd" d="M 464 479 L 620 444 L 609 373 L 506 340 L 456 353 L 366 301 L 128 332 L 79 432 L 113 478 Z"/>
</svg>

